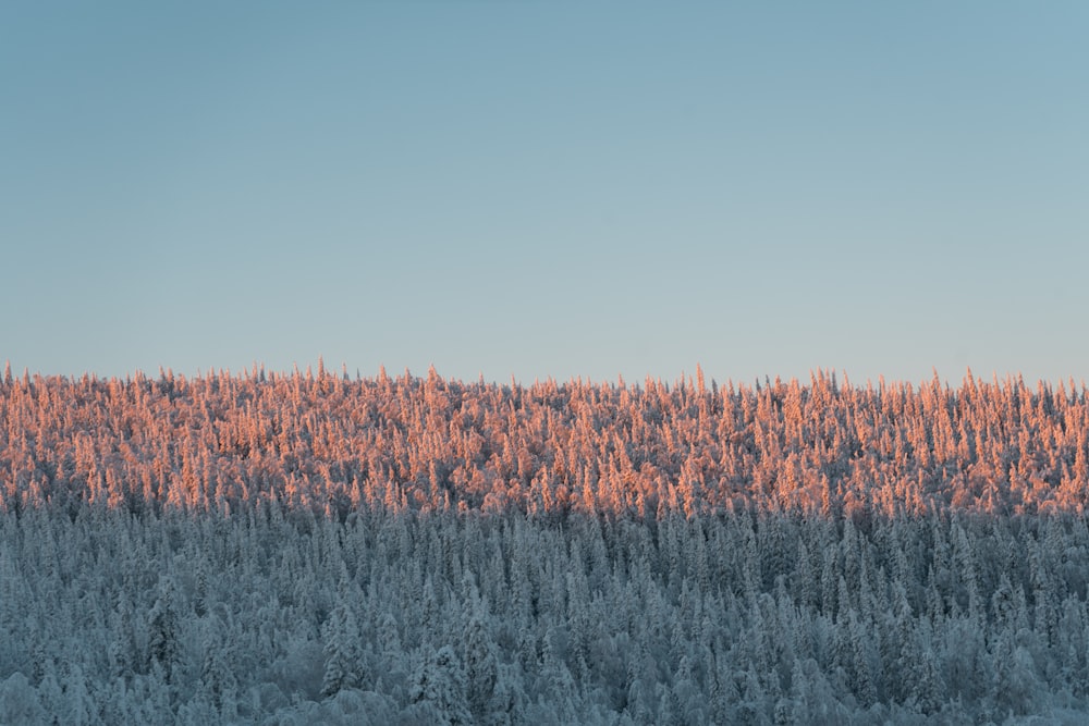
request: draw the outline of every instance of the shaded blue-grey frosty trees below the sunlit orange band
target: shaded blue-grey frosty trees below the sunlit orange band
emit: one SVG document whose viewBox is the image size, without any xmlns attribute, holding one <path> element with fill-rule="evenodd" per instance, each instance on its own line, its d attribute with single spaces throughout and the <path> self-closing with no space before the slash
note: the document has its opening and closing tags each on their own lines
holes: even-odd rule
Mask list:
<svg viewBox="0 0 1089 726">
<path fill-rule="evenodd" d="M 1073 515 L 0 528 L 5 724 L 1081 723 L 1089 702 Z"/>
</svg>

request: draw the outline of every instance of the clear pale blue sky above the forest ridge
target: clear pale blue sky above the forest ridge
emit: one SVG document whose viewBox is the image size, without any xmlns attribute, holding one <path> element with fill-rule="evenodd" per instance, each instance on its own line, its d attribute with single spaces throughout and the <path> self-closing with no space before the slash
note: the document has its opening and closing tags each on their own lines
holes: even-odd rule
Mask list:
<svg viewBox="0 0 1089 726">
<path fill-rule="evenodd" d="M 0 360 L 1089 379 L 1089 3 L 0 4 Z"/>
</svg>

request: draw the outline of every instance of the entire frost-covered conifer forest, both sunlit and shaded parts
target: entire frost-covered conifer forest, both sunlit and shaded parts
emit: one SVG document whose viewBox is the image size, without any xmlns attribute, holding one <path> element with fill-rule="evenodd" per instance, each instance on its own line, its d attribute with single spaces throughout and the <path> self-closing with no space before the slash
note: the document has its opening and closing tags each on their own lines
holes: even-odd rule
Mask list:
<svg viewBox="0 0 1089 726">
<path fill-rule="evenodd" d="M 0 724 L 1084 723 L 1087 492 L 1073 381 L 8 370 Z"/>
</svg>

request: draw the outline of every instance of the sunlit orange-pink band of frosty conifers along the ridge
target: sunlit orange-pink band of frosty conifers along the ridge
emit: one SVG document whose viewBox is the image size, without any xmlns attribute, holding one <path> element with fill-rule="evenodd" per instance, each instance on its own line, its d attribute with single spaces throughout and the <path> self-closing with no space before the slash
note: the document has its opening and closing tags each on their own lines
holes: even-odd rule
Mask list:
<svg viewBox="0 0 1089 726">
<path fill-rule="evenodd" d="M 133 513 L 278 501 L 341 519 L 360 503 L 534 515 L 819 512 L 949 506 L 1080 510 L 1085 389 L 754 387 L 554 381 L 523 386 L 384 371 L 125 380 L 5 377 L 0 506 Z"/>
</svg>

